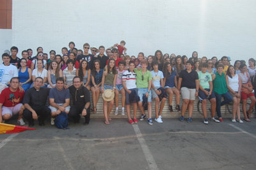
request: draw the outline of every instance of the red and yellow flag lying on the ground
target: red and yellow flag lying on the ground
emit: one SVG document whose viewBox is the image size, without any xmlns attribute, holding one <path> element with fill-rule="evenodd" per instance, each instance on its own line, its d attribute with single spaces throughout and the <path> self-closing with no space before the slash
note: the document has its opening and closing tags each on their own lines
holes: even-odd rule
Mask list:
<svg viewBox="0 0 256 170">
<path fill-rule="evenodd" d="M 12 133 L 19 133 L 25 130 L 36 130 L 35 128 L 29 127 L 20 127 L 16 125 L 10 125 L 6 123 L 0 123 L 0 134 L 12 134 Z"/>
</svg>

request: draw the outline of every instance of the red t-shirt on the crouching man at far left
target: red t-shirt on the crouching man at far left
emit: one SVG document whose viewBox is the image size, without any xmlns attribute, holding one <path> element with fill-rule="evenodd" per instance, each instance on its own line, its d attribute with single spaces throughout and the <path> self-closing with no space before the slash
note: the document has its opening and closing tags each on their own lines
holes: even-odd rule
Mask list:
<svg viewBox="0 0 256 170">
<path fill-rule="evenodd" d="M 10 87 L 5 88 L 0 95 L 0 104 L 3 104 L 5 107 L 14 107 L 21 103 L 24 93 L 24 91 L 20 92 L 19 88 L 15 92 L 12 92 Z"/>
</svg>

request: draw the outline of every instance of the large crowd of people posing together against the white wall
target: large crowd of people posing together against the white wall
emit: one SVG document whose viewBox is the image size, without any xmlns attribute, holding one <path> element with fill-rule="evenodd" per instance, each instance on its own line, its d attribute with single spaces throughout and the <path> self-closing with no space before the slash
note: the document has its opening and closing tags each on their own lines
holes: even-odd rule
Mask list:
<svg viewBox="0 0 256 170">
<path fill-rule="evenodd" d="M 23 118 L 29 126 L 34 125 L 34 120 L 44 125 L 50 115 L 51 125 L 56 125 L 67 120 L 78 123 L 82 115 L 84 123 L 88 124 L 90 113 L 97 112 L 101 95 L 104 123 L 107 125 L 111 121 L 110 113 L 114 104 L 115 115 L 127 114 L 130 124 L 138 123 L 138 107 L 142 113 L 140 120 L 146 119 L 147 111 L 147 122 L 152 125 L 152 99 L 155 101 L 153 112 L 157 123 L 163 123 L 162 112 L 166 100 L 170 112 L 180 112 L 180 121 L 185 120 L 184 114 L 188 110 L 186 121 L 192 122 L 196 97 L 202 102 L 205 124 L 209 123 L 207 100 L 211 102 L 211 120 L 214 122 L 223 121 L 221 105 L 229 102 L 233 104 L 232 122 L 251 121 L 256 102 L 256 68 L 253 58 L 249 59 L 248 65 L 243 60 L 231 65 L 227 56 L 220 59 L 199 58 L 197 52 L 193 52 L 191 57 L 169 56 L 161 50 L 156 50 L 154 55 L 148 57 L 140 52 L 136 58 L 126 54 L 124 41 L 108 49 L 104 46 L 90 48 L 88 43 L 84 43 L 83 50 L 77 50 L 74 42 L 68 46 L 69 50 L 67 47 L 61 49 L 61 55 L 54 50 L 48 55 L 42 47 L 36 49 L 36 56 L 33 56 L 32 49 L 28 49 L 21 52 L 20 59 L 17 57 L 17 47 L 12 47 L 10 54 L 5 52 L 2 55 L 0 122 L 18 114 L 20 125 L 25 125 Z M 172 105 L 173 95 L 175 105 Z M 246 107 L 247 101 L 250 101 L 249 108 Z M 122 109 L 118 108 L 119 102 Z"/>
</svg>

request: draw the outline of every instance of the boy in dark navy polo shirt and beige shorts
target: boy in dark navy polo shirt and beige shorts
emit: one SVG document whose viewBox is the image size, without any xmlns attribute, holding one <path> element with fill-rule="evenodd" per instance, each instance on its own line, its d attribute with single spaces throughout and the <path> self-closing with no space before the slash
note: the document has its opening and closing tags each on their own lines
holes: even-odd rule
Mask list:
<svg viewBox="0 0 256 170">
<path fill-rule="evenodd" d="M 187 122 L 192 122 L 192 112 L 194 109 L 195 97 L 198 97 L 199 81 L 198 74 L 196 71 L 192 70 L 192 61 L 186 62 L 186 70 L 182 70 L 179 75 L 178 89 L 180 90 L 182 96 L 182 109 L 180 121 L 184 121 L 184 114 L 188 108 L 188 120 Z"/>
</svg>

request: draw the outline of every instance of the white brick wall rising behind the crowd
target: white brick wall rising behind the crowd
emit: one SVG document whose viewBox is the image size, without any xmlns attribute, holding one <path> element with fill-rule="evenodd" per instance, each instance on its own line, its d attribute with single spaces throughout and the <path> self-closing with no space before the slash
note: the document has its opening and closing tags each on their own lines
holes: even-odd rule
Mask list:
<svg viewBox="0 0 256 170">
<path fill-rule="evenodd" d="M 60 53 L 70 41 L 81 49 L 85 42 L 109 47 L 125 40 L 129 55 L 160 49 L 190 57 L 196 50 L 233 63 L 255 58 L 255 6 L 253 0 L 13 0 L 12 45 Z"/>
</svg>

